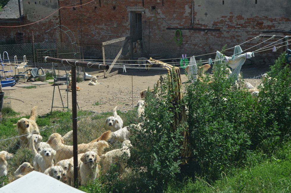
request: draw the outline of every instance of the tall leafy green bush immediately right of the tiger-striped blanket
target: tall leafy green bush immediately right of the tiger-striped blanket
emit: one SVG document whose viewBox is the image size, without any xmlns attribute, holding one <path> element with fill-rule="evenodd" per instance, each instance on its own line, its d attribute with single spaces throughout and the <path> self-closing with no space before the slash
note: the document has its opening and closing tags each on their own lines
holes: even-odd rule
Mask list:
<svg viewBox="0 0 291 193">
<path fill-rule="evenodd" d="M 218 61 L 216 71 L 204 81 L 187 85 L 189 132 L 193 173 L 216 179 L 231 166 L 243 164 L 250 150 L 249 119 L 256 100 L 226 78 L 227 63 Z"/>
</svg>

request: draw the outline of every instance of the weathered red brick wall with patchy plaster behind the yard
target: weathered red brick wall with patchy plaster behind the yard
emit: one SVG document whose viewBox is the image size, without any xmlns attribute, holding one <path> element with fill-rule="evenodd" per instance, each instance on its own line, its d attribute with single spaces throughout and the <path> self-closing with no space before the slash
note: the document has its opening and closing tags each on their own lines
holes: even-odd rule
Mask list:
<svg viewBox="0 0 291 193">
<path fill-rule="evenodd" d="M 231 48 L 260 34 L 291 35 L 291 18 L 288 15 L 291 5 L 288 0 L 278 0 L 276 3 L 261 0 L 235 2 L 194 0 L 193 13 L 191 0 L 108 0 L 85 4 L 87 2 L 89 1 L 60 0 L 60 7 L 70 6 L 60 10 L 60 21 L 55 14 L 34 25 L 8 29 L 4 34 L 10 37 L 15 32 L 24 32 L 25 41 L 31 42 L 33 31 L 35 41 L 43 41 L 46 39 L 44 31 L 61 22 L 71 30 L 78 30 L 85 57 L 101 57 L 102 42 L 130 35 L 129 13 L 137 11 L 144 12 L 142 14 L 143 51 L 147 56 L 178 58 L 182 54 L 187 54 L 188 57 L 204 55 L 201 56 L 203 59 L 214 58 L 215 54 L 205 54 L 215 53 L 225 44 L 227 48 Z M 44 13 L 44 16 L 46 15 Z M 22 23 L 31 23 L 31 21 L 24 20 Z M 176 45 L 174 42 L 176 29 L 182 30 L 181 45 Z M 241 47 L 245 50 L 265 40 L 256 38 L 242 44 Z M 272 41 L 247 51 L 255 51 Z M 277 52 L 270 50 L 256 53 L 255 58 L 248 60 L 247 63 L 269 64 L 272 58 L 276 58 L 284 50 L 285 48 L 281 48 Z M 232 53 L 232 49 L 226 51 L 226 55 Z"/>
</svg>

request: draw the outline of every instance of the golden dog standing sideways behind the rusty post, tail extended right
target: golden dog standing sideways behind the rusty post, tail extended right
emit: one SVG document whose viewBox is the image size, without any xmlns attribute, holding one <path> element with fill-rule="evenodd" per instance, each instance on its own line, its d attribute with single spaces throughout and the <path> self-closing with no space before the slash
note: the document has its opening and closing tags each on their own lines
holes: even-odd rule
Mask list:
<svg viewBox="0 0 291 193">
<path fill-rule="evenodd" d="M 54 150 L 56 150 L 56 156 L 54 158 L 55 162 L 60 160 L 69 159 L 73 157 L 73 146 L 65 145 L 62 136 L 59 133 L 53 133 L 48 138 L 47 142 Z M 109 144 L 107 141 L 100 140 L 97 142 L 90 142 L 87 144 L 79 144 L 78 152 L 84 153 L 92 149 L 97 149 L 98 155 L 101 155 L 104 148 L 108 147 Z"/>
</svg>

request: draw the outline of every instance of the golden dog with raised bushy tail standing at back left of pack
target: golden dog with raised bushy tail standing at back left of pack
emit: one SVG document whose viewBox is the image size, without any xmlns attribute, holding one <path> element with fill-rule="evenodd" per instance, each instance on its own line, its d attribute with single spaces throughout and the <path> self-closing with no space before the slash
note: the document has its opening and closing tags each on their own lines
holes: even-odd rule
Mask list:
<svg viewBox="0 0 291 193">
<path fill-rule="evenodd" d="M 29 140 L 27 138 L 27 135 L 29 134 L 40 134 L 38 126 L 35 122 L 37 114 L 36 109 L 37 107 L 33 107 L 30 112 L 30 118 L 22 118 L 18 120 L 17 122 L 17 131 L 19 136 L 19 143 L 21 147 L 28 147 Z"/>
</svg>

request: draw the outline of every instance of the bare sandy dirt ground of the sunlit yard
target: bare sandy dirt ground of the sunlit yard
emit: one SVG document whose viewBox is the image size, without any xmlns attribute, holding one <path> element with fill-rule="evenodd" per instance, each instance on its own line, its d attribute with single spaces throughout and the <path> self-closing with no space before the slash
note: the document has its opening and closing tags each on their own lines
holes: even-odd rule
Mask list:
<svg viewBox="0 0 291 193">
<path fill-rule="evenodd" d="M 241 72 L 245 81 L 257 85 L 260 79 L 250 79 L 254 76 L 264 74 L 269 70 L 269 66 L 242 66 Z M 210 70 L 209 70 L 210 72 Z M 157 83 L 159 76 L 165 74 L 166 70 L 150 69 L 150 71 L 138 71 L 128 69 L 126 73 L 120 73 L 112 77 L 103 78 L 103 73 L 98 75 L 100 85 L 88 85 L 88 80 L 77 85 L 83 88 L 77 91 L 77 102 L 81 110 L 92 110 L 94 112 L 107 112 L 113 110 L 115 106 L 118 109 L 129 108 L 136 105 L 140 100 L 140 91 L 148 87 L 153 88 Z M 184 69 L 181 69 L 182 83 L 187 81 Z M 18 81 L 21 84 L 27 84 Z M 31 83 L 31 82 L 30 82 Z M 29 83 L 29 85 L 30 85 Z M 15 86 L 14 86 L 15 87 Z M 66 88 L 61 85 L 60 88 Z M 36 88 L 21 88 L 15 90 L 5 90 L 4 92 L 11 98 L 11 107 L 16 112 L 20 112 L 20 116 L 30 114 L 33 106 L 38 106 L 37 113 L 39 115 L 46 114 L 51 111 L 52 97 L 54 86 L 51 84 L 36 85 Z M 57 86 L 55 87 L 54 106 L 61 106 L 61 99 Z M 64 105 L 67 103 L 67 93 L 61 90 Z M 72 108 L 71 92 L 68 93 L 69 108 Z M 9 100 L 9 99 L 7 99 Z M 21 101 L 20 101 L 21 100 Z M 100 105 L 94 105 L 98 102 Z M 5 104 L 5 101 L 4 101 Z M 62 108 L 53 108 L 53 110 L 61 110 Z"/>
</svg>

